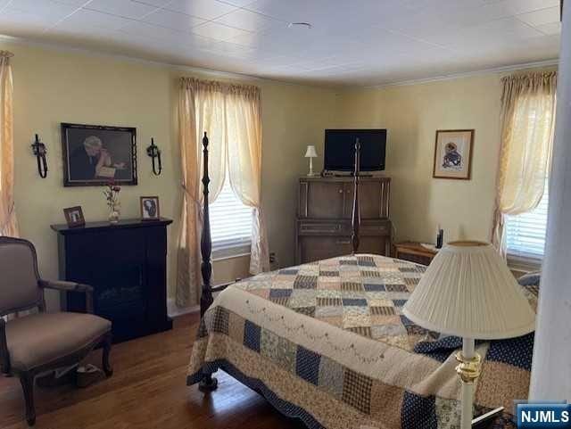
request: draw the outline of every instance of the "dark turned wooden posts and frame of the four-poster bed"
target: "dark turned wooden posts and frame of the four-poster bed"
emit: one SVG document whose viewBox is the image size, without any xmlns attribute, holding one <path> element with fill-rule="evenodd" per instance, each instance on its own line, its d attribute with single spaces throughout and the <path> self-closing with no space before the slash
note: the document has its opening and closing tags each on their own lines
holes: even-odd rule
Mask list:
<svg viewBox="0 0 571 429">
<path fill-rule="evenodd" d="M 211 182 L 208 176 L 208 136 L 206 132 L 203 136 L 203 231 L 200 239 L 200 252 L 202 256 L 201 273 L 203 275 L 203 288 L 200 298 L 200 317 L 203 318 L 206 310 L 211 306 L 213 300 L 212 293 L 221 292 L 232 285 L 218 285 L 212 287 L 212 240 L 211 240 L 211 219 L 210 210 L 208 207 L 208 186 Z M 360 230 L 360 210 L 359 210 L 359 174 L 360 174 L 360 142 L 359 139 L 355 142 L 355 168 L 353 169 L 353 210 L 351 221 L 351 243 L 353 254 L 359 249 L 359 230 Z M 218 380 L 211 375 L 204 375 L 203 380 L 199 384 L 199 389 L 203 392 L 212 392 L 218 387 Z"/>
</svg>

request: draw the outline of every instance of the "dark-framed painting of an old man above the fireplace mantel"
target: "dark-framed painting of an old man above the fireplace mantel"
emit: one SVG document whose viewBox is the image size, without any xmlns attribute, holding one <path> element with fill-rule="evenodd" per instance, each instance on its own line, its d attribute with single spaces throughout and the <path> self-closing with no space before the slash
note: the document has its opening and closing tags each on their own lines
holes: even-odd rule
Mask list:
<svg viewBox="0 0 571 429">
<path fill-rule="evenodd" d="M 137 185 L 137 128 L 62 122 L 63 186 Z"/>
</svg>

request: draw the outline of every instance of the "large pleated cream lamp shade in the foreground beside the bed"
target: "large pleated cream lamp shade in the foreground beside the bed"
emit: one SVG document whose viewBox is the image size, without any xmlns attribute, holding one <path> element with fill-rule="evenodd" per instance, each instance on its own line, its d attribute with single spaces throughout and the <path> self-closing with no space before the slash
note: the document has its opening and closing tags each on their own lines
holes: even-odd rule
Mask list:
<svg viewBox="0 0 571 429">
<path fill-rule="evenodd" d="M 492 340 L 530 333 L 535 313 L 491 244 L 448 243 L 402 309 L 418 326 Z"/>
</svg>

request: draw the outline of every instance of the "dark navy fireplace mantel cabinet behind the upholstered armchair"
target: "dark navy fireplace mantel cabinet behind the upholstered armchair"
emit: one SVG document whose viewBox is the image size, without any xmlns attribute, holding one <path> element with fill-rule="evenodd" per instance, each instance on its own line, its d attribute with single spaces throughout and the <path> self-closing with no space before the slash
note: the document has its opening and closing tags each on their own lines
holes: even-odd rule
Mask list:
<svg viewBox="0 0 571 429">
<path fill-rule="evenodd" d="M 60 278 L 94 287 L 95 314 L 112 321 L 115 342 L 172 327 L 167 315 L 167 226 L 172 221 L 91 222 L 54 225 Z M 85 308 L 82 296 L 67 293 L 62 307 Z"/>
</svg>

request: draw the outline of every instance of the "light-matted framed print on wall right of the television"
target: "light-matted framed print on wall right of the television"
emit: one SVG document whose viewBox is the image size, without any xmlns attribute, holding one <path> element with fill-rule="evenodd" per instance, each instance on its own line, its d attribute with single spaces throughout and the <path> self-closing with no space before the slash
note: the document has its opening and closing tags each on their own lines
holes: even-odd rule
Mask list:
<svg viewBox="0 0 571 429">
<path fill-rule="evenodd" d="M 436 130 L 434 178 L 469 180 L 472 176 L 474 129 Z"/>
</svg>

